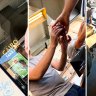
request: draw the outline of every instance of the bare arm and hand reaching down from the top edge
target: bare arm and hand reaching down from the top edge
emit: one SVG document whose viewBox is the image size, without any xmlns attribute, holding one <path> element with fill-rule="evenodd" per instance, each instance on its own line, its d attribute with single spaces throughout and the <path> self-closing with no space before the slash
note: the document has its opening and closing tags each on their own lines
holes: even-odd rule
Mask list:
<svg viewBox="0 0 96 96">
<path fill-rule="evenodd" d="M 67 33 L 68 29 L 69 29 L 70 14 L 78 1 L 79 0 L 65 0 L 63 11 L 59 15 L 59 17 L 56 19 L 56 22 L 53 26 L 55 26 L 58 22 L 60 22 L 64 26 L 64 28 L 66 29 L 66 33 Z"/>
</svg>

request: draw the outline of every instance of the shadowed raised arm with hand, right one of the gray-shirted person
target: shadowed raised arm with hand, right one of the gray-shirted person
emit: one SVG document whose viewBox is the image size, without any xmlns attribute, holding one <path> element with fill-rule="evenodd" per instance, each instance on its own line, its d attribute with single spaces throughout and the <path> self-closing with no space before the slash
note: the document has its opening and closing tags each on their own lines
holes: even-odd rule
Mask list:
<svg viewBox="0 0 96 96">
<path fill-rule="evenodd" d="M 55 62 L 53 61 L 51 64 L 58 71 L 63 71 L 66 65 L 66 60 L 67 60 L 67 45 L 69 42 L 69 38 L 67 38 L 67 36 L 63 36 L 60 39 L 61 39 L 60 40 L 60 45 L 61 45 L 60 61 L 55 61 Z"/>
</svg>

